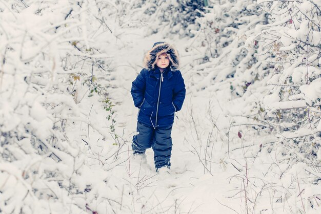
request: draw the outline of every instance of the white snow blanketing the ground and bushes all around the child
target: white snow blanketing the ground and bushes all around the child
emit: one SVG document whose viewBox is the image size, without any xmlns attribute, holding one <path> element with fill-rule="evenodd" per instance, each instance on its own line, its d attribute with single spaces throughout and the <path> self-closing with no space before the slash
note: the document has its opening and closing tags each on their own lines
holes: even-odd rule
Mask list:
<svg viewBox="0 0 321 214">
<path fill-rule="evenodd" d="M 309 1 L 293 3 L 297 30 L 265 0 L 209 1 L 186 29 L 164 20 L 182 15 L 178 1 L 11 2 L 0 2 L 0 212 L 321 211 L 321 61 L 313 46 L 309 67 L 307 47 L 296 52 L 311 28 L 296 9 L 316 19 Z M 187 86 L 159 174 L 151 149 L 131 151 L 131 82 L 155 41 L 178 49 Z"/>
</svg>

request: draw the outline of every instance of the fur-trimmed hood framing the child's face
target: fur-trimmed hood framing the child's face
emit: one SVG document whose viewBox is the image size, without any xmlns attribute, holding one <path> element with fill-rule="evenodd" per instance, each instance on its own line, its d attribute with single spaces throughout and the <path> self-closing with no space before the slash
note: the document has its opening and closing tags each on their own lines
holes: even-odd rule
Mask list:
<svg viewBox="0 0 321 214">
<path fill-rule="evenodd" d="M 179 66 L 178 53 L 174 49 L 174 47 L 167 42 L 156 42 L 154 44 L 153 48 L 148 51 L 148 53 L 144 57 L 144 67 L 149 71 L 154 70 L 156 59 L 163 53 L 168 54 L 171 71 L 177 70 Z"/>
</svg>

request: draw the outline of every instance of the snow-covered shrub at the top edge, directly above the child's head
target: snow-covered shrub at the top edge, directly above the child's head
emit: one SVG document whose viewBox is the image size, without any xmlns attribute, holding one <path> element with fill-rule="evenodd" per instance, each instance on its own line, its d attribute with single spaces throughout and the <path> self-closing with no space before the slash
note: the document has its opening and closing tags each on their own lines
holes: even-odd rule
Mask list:
<svg viewBox="0 0 321 214">
<path fill-rule="evenodd" d="M 142 0 L 133 1 L 132 9 L 127 11 L 139 27 L 148 26 L 147 35 L 162 32 L 165 38 L 175 34 L 183 37 L 193 36 L 191 30 L 197 28 L 195 18 L 206 5 L 204 0 Z"/>
</svg>

